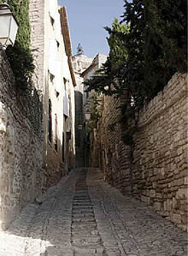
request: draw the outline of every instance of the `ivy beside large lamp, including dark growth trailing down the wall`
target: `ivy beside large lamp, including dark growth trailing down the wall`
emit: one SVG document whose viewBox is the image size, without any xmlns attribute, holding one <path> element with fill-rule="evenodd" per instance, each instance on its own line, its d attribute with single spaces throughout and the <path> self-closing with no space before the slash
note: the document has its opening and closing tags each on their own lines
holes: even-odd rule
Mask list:
<svg viewBox="0 0 188 256">
<path fill-rule="evenodd" d="M 0 3 L 3 3 L 0 0 Z M 30 50 L 29 0 L 10 0 L 9 6 L 19 24 L 15 45 L 9 45 L 6 55 L 15 74 L 16 103 L 33 131 L 40 136 L 43 121 L 43 102 L 38 90 L 32 86 L 34 64 Z"/>
</svg>

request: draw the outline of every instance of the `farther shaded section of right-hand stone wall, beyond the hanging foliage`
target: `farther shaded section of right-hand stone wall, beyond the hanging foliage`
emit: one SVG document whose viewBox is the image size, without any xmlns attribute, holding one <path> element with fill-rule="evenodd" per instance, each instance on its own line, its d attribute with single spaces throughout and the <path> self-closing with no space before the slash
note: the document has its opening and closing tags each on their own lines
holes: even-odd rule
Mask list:
<svg viewBox="0 0 188 256">
<path fill-rule="evenodd" d="M 91 138 L 91 165 L 96 162 L 103 170 L 104 179 L 121 192 L 131 190 L 130 186 L 130 148 L 121 138 L 120 98 L 103 98 L 103 116 L 97 124 L 97 132 Z"/>
</svg>

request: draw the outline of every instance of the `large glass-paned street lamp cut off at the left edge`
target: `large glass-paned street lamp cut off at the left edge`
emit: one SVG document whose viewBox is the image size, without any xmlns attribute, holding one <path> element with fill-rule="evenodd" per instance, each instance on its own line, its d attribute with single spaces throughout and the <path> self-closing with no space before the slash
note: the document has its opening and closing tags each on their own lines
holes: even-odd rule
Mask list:
<svg viewBox="0 0 188 256">
<path fill-rule="evenodd" d="M 0 4 L 0 43 L 3 47 L 15 44 L 18 23 L 12 14 L 9 4 Z"/>
</svg>

